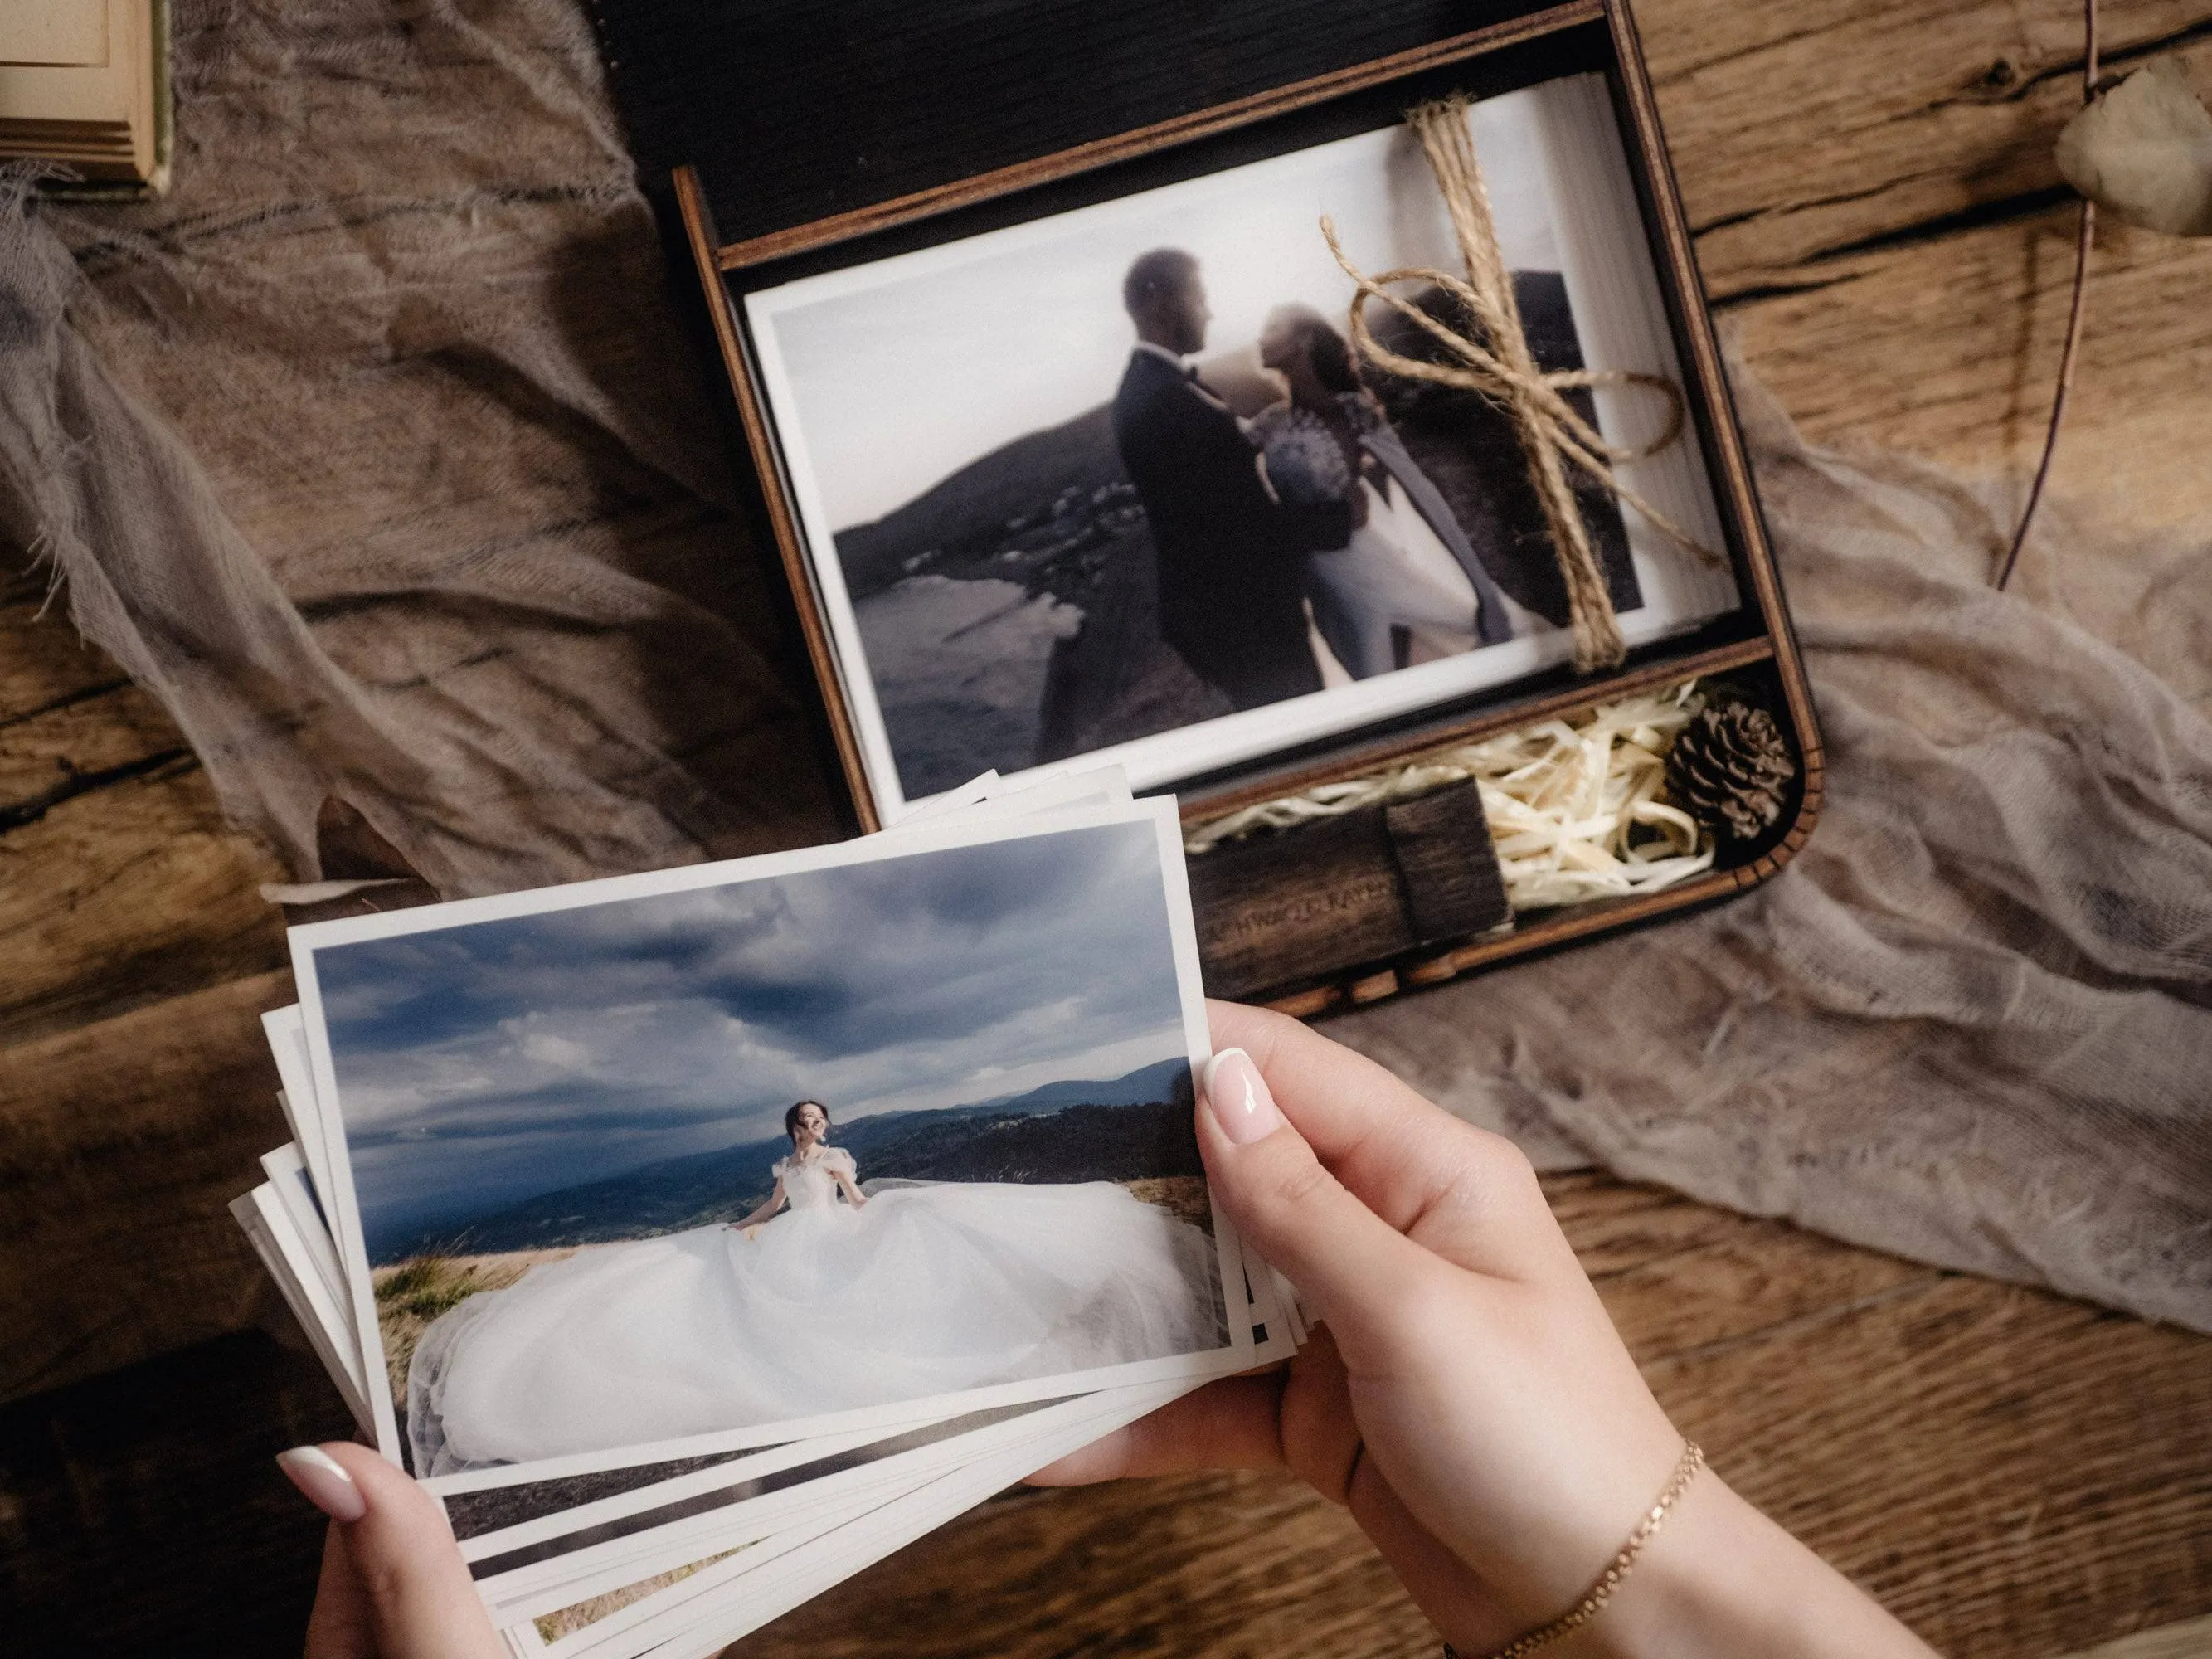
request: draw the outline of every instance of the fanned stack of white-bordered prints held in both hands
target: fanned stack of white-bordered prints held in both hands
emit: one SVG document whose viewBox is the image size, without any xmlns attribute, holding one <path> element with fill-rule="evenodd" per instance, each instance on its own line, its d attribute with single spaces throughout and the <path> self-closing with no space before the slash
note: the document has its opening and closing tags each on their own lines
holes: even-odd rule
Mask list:
<svg viewBox="0 0 2212 1659">
<path fill-rule="evenodd" d="M 1175 803 L 292 931 L 234 1214 L 518 1655 L 686 1659 L 1303 1340 L 1192 1135 Z"/>
</svg>

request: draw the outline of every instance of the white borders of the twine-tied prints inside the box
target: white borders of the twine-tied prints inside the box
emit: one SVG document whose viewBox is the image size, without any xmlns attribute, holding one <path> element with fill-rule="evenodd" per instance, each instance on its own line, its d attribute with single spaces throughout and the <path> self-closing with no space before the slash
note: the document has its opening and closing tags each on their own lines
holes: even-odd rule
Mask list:
<svg viewBox="0 0 2212 1659">
<path fill-rule="evenodd" d="M 1542 170 L 1540 195 L 1548 212 L 1559 274 L 1566 281 L 1568 307 L 1586 367 L 1657 374 L 1681 385 L 1681 361 L 1606 77 L 1599 73 L 1566 75 L 1482 100 L 1471 111 L 1471 126 L 1478 153 L 1484 150 L 1484 135 L 1495 139 L 1513 126 L 1533 135 Z M 860 763 L 887 823 L 909 805 L 909 799 L 898 779 L 898 761 L 854 599 L 836 555 L 836 524 L 825 504 L 805 425 L 799 418 L 801 394 L 779 336 L 783 319 L 823 301 L 896 288 L 918 276 L 936 276 L 1013 252 L 1048 248 L 1055 241 L 1077 234 L 1091 237 L 1121 223 L 1128 226 L 1128 246 L 1141 250 L 1152 246 L 1146 239 L 1146 223 L 1170 208 L 1181 210 L 1248 192 L 1296 190 L 1301 177 L 1336 166 L 1358 146 L 1387 146 L 1402 135 L 1405 128 L 1394 126 L 1332 139 L 1206 177 L 745 294 L 745 321 L 761 392 L 781 451 L 783 476 L 796 504 L 796 531 L 805 549 L 805 564 L 827 619 L 834 668 L 852 710 Z M 1493 179 L 1493 192 L 1498 192 L 1498 179 Z M 1502 223 L 1502 232 L 1509 230 Z M 1316 241 L 1318 234 L 1316 226 Z M 1358 257 L 1358 250 L 1349 252 Z M 1442 263 L 1455 261 L 1444 259 Z M 1102 400 L 1110 396 L 1110 387 L 1102 387 L 1099 396 Z M 1599 431 L 1610 442 L 1635 445 L 1657 436 L 1655 398 L 1648 392 L 1595 387 L 1593 396 Z M 1683 422 L 1674 445 L 1657 456 L 1621 462 L 1615 473 L 1701 546 L 1714 553 L 1728 546 L 1694 425 Z M 1697 560 L 1628 502 L 1621 502 L 1621 520 L 1644 593 L 1644 604 L 1619 617 L 1621 635 L 1630 646 L 1690 633 L 1743 606 L 1743 595 L 1725 560 L 1721 564 Z M 1478 690 L 1526 679 L 1564 664 L 1571 655 L 1573 635 L 1566 628 L 1546 628 L 1537 635 L 1349 686 L 1332 686 L 1265 708 L 1221 714 L 1071 759 L 1117 763 L 1128 772 L 1135 790 L 1157 790 L 1181 779 L 1256 761 L 1296 743 L 1343 737 Z M 1022 781 L 1029 774 L 1009 772 L 1006 776 Z"/>
</svg>

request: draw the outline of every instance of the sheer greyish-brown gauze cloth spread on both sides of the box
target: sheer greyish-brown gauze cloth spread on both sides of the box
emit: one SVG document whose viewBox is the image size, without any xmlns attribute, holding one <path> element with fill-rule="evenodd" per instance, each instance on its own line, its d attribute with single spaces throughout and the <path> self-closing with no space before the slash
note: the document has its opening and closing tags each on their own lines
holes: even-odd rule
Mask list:
<svg viewBox="0 0 2212 1659">
<path fill-rule="evenodd" d="M 179 0 L 177 60 L 168 201 L 0 219 L 0 524 L 232 821 L 312 880 L 338 794 L 447 894 L 830 834 L 580 11 Z M 2053 513 L 2000 595 L 1986 491 L 1739 392 L 1809 849 L 1332 1031 L 1546 1166 L 2212 1329 L 2205 538 Z"/>
</svg>

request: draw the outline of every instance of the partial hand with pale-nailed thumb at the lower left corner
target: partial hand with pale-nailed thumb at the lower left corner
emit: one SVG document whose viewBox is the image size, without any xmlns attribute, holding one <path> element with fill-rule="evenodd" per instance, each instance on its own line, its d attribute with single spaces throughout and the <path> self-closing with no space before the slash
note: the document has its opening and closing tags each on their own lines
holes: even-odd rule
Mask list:
<svg viewBox="0 0 2212 1659">
<path fill-rule="evenodd" d="M 343 1440 L 276 1467 L 330 1515 L 305 1659 L 507 1659 L 427 1491 Z"/>
</svg>

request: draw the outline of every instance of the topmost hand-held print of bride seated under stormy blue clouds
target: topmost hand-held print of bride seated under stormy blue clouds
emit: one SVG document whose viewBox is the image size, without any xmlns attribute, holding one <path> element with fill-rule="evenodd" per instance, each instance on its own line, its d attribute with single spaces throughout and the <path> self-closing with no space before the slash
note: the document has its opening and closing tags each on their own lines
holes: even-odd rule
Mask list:
<svg viewBox="0 0 2212 1659">
<path fill-rule="evenodd" d="M 1172 807 L 1051 823 L 294 933 L 389 1449 L 529 1480 L 1248 1354 Z"/>
</svg>

